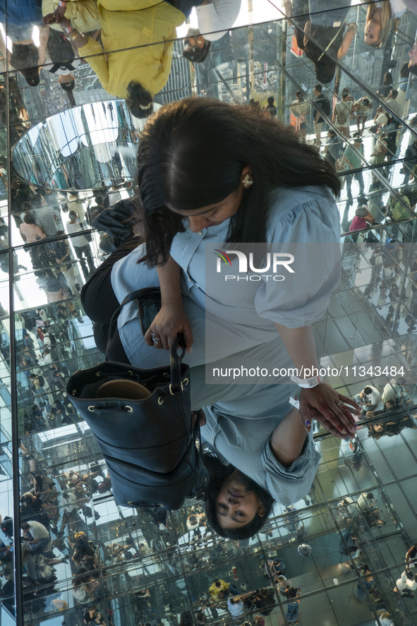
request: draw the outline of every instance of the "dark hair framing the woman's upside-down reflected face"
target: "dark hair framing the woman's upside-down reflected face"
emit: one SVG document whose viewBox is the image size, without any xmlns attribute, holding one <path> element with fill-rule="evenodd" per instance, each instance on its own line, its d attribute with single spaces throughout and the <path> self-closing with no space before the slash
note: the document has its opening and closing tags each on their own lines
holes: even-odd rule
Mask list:
<svg viewBox="0 0 417 626">
<path fill-rule="evenodd" d="M 214 532 L 222 537 L 227 537 L 236 541 L 238 541 L 238 539 L 252 537 L 259 532 L 267 521 L 268 515 L 272 511 L 272 505 L 274 504 L 274 498 L 272 498 L 272 495 L 260 487 L 258 483 L 255 483 L 252 478 L 249 478 L 246 474 L 239 472 L 239 478 L 243 483 L 245 483 L 246 489 L 254 491 L 258 496 L 258 500 L 264 508 L 264 514 L 260 516 L 256 513 L 253 520 L 246 524 L 246 526 L 241 526 L 241 528 L 224 529 L 220 526 L 219 520 L 217 519 L 216 498 L 222 490 L 224 481 L 226 478 L 229 478 L 231 474 L 233 474 L 236 467 L 231 464 L 223 465 L 220 459 L 210 452 L 204 453 L 203 462 L 209 475 L 209 484 L 205 489 L 205 514 L 207 522 L 210 524 Z"/>
</svg>

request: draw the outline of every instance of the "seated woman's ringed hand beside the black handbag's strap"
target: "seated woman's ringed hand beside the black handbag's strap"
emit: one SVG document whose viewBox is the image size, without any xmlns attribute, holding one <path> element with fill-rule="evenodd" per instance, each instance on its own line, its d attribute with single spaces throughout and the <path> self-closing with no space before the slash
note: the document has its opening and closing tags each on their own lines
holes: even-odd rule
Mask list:
<svg viewBox="0 0 417 626">
<path fill-rule="evenodd" d="M 186 341 L 186 349 L 189 354 L 193 345 L 193 332 L 183 305 L 179 301 L 179 303 L 171 303 L 169 306 L 162 306 L 146 332 L 145 342 L 148 346 L 170 350 L 176 337 L 181 332 Z M 152 337 L 152 333 L 154 337 Z"/>
</svg>

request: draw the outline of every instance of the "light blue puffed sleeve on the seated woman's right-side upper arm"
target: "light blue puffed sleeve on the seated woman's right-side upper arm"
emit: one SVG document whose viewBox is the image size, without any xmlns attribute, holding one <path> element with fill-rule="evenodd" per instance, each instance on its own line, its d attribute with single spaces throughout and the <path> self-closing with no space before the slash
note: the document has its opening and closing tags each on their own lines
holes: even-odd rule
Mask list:
<svg viewBox="0 0 417 626">
<path fill-rule="evenodd" d="M 340 218 L 336 203 L 325 190 L 304 188 L 279 197 L 270 218 L 267 240 L 272 250 L 292 254 L 291 269 L 263 277 L 255 295 L 261 318 L 289 328 L 319 320 L 341 276 Z M 301 200 L 301 201 L 300 201 Z M 281 278 L 279 278 L 281 276 Z"/>
</svg>

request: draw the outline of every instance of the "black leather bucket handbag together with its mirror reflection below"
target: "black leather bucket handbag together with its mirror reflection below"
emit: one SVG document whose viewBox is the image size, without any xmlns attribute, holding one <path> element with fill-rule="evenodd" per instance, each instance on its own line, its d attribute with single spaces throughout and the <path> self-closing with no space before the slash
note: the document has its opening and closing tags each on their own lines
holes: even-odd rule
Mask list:
<svg viewBox="0 0 417 626">
<path fill-rule="evenodd" d="M 171 366 L 141 369 L 104 361 L 68 380 L 68 398 L 97 438 L 117 505 L 174 510 L 203 495 L 208 478 L 200 424 L 191 416 L 185 351 L 181 335 L 171 349 Z"/>
</svg>

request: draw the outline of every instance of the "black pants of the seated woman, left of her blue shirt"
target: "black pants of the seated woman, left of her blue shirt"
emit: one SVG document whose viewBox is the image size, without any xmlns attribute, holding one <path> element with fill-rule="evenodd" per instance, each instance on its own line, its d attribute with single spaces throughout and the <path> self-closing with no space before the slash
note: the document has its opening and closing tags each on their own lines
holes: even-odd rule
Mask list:
<svg viewBox="0 0 417 626">
<path fill-rule="evenodd" d="M 81 303 L 84 311 L 95 323 L 94 339 L 97 348 L 103 354 L 107 354 L 110 361 L 117 361 L 118 363 L 130 364 L 130 361 L 121 343 L 116 323 L 112 326 L 111 335 L 108 338 L 111 318 L 116 309 L 119 308 L 119 300 L 114 294 L 113 287 L 111 287 L 111 270 L 114 263 L 131 253 L 142 241 L 139 237 L 131 237 L 122 243 L 120 248 L 117 248 L 109 258 L 97 267 L 92 277 L 81 289 Z"/>
</svg>

